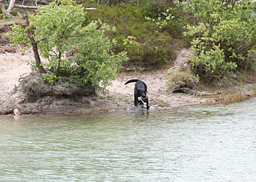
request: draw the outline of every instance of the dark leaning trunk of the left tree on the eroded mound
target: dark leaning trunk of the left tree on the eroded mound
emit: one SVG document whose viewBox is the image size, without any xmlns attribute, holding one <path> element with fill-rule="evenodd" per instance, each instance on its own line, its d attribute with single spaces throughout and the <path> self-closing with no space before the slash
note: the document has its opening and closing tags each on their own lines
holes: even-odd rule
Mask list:
<svg viewBox="0 0 256 182">
<path fill-rule="evenodd" d="M 26 15 L 24 17 L 26 19 L 26 27 L 29 27 L 29 16 L 28 16 L 28 14 L 26 13 Z M 29 39 L 31 41 L 31 45 L 32 45 L 33 52 L 34 52 L 34 58 L 36 60 L 37 68 L 39 70 L 39 73 L 40 74 L 46 73 L 45 68 L 43 68 L 41 66 L 41 60 L 40 60 L 39 52 L 38 52 L 38 49 L 37 49 L 38 41 L 34 41 L 34 31 L 32 29 L 29 29 L 27 31 L 27 33 L 28 33 Z"/>
</svg>

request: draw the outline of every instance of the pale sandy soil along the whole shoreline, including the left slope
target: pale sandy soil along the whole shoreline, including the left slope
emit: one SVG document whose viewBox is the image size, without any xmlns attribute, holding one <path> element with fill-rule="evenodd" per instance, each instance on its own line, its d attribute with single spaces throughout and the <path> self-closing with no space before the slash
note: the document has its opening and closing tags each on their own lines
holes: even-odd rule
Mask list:
<svg viewBox="0 0 256 182">
<path fill-rule="evenodd" d="M 10 49 L 10 47 L 12 49 Z M 230 100 L 239 100 L 240 98 L 244 98 L 244 96 L 255 95 L 256 86 L 254 82 L 246 82 L 246 84 L 241 85 L 236 84 L 236 87 L 234 85 L 233 87 L 230 87 L 229 85 L 223 84 L 222 87 L 214 88 L 197 85 L 196 89 L 200 92 L 224 93 L 224 95 L 218 94 L 207 97 L 167 92 L 166 84 L 170 79 L 170 73 L 181 71 L 181 68 L 186 67 L 187 60 L 191 57 L 192 52 L 187 48 L 179 48 L 176 50 L 176 55 L 176 60 L 174 60 L 170 68 L 155 71 L 132 71 L 118 74 L 117 78 L 112 81 L 111 86 L 108 87 L 108 90 L 97 92 L 97 95 L 87 97 L 86 101 L 78 102 L 78 100 L 69 100 L 69 104 L 67 104 L 63 99 L 49 101 L 50 98 L 48 98 L 48 101 L 45 101 L 43 104 L 37 103 L 39 104 L 38 106 L 29 105 L 25 107 L 13 104 L 10 105 L 8 109 L 5 109 L 8 107 L 7 100 L 10 100 L 10 98 L 19 100 L 19 96 L 13 95 L 13 92 L 14 90 L 17 90 L 20 77 L 32 72 L 28 63 L 29 60 L 33 58 L 33 52 L 31 49 L 21 51 L 20 47 L 13 48 L 9 42 L 4 42 L 4 44 L 0 44 L 0 114 L 10 114 L 13 109 L 17 107 L 20 107 L 20 112 L 23 114 L 87 114 L 95 111 L 122 111 L 135 109 L 133 106 L 135 84 L 131 83 L 124 85 L 129 79 L 140 79 L 143 80 L 143 82 L 146 82 L 148 86 L 149 105 L 151 106 L 150 110 L 199 103 L 216 103 L 225 101 L 226 98 L 230 98 L 230 95 L 236 94 L 241 96 L 233 96 Z M 237 78 L 234 80 L 238 82 Z M 241 81 L 241 79 L 239 80 Z M 227 82 L 230 81 L 227 80 Z M 51 106 L 42 108 L 41 106 L 44 106 L 45 104 Z M 30 108 L 31 111 L 26 111 L 25 108 Z"/>
</svg>

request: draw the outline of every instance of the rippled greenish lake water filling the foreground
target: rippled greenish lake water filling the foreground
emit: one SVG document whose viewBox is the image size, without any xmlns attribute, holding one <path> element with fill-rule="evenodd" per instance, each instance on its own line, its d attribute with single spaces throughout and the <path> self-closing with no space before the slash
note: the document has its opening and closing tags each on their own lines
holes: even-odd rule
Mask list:
<svg viewBox="0 0 256 182">
<path fill-rule="evenodd" d="M 0 116 L 0 181 L 256 181 L 256 98 L 89 116 Z"/>
</svg>

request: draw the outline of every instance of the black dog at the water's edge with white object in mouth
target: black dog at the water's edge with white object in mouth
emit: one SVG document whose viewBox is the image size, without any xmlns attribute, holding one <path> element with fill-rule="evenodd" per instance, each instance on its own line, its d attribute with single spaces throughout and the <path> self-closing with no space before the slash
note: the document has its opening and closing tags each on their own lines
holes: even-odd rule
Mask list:
<svg viewBox="0 0 256 182">
<path fill-rule="evenodd" d="M 139 79 L 130 79 L 125 84 L 129 84 L 132 82 L 136 82 L 136 84 L 135 84 L 135 106 L 138 106 L 139 103 L 140 103 L 140 105 L 144 106 L 144 103 L 146 102 L 147 109 L 149 109 L 148 96 L 147 96 L 147 85 Z"/>
</svg>

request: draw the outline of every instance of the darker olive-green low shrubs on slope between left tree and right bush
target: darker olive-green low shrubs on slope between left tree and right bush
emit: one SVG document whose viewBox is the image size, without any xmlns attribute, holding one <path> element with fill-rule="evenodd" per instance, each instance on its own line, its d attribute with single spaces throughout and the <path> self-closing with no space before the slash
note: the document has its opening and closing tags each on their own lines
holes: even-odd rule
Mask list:
<svg viewBox="0 0 256 182">
<path fill-rule="evenodd" d="M 164 9 L 157 6 L 155 1 L 146 1 L 146 4 L 140 4 L 138 7 L 131 4 L 118 4 L 114 7 L 94 6 L 97 6 L 98 11 L 88 12 L 87 21 L 101 19 L 105 23 L 115 25 L 116 31 L 108 33 L 108 36 L 117 41 L 114 51 L 127 51 L 129 63 L 132 65 L 159 67 L 165 65 L 167 60 L 175 58 L 170 33 L 161 31 L 155 23 L 145 18 L 156 17 Z M 148 9 L 154 11 L 149 12 Z M 135 39 L 128 39 L 129 36 Z"/>
</svg>

